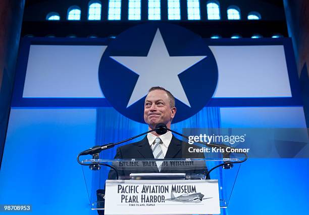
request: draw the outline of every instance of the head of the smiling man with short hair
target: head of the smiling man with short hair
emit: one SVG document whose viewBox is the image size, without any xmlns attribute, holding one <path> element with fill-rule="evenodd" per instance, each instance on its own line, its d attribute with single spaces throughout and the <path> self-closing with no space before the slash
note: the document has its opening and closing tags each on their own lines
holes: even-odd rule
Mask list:
<svg viewBox="0 0 309 215">
<path fill-rule="evenodd" d="M 174 96 L 164 88 L 150 88 L 144 103 L 144 120 L 149 127 L 153 129 L 163 122 L 170 128 L 175 114 Z"/>
</svg>

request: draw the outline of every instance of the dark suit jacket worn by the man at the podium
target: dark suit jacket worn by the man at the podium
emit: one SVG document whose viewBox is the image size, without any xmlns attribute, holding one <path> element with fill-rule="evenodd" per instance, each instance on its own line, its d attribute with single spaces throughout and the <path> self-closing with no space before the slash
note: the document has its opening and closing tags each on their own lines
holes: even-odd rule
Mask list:
<svg viewBox="0 0 309 215">
<path fill-rule="evenodd" d="M 189 147 L 200 148 L 195 145 L 189 145 L 188 143 L 183 142 L 172 136 L 172 140 L 165 155 L 165 159 L 204 158 L 203 153 L 189 153 L 188 152 Z M 148 143 L 147 136 L 145 136 L 141 141 L 118 147 L 114 159 L 155 159 L 155 158 L 153 157 L 153 153 Z M 199 162 L 199 164 L 201 163 Z M 180 168 L 178 167 L 175 169 L 171 169 L 171 167 L 163 165 L 160 173 L 185 173 L 187 175 L 207 174 L 208 169 L 204 162 L 202 164 L 204 165 L 203 166 L 199 165 L 198 167 L 190 167 L 190 169 L 186 170 L 182 169 L 181 166 Z M 194 165 L 195 164 L 193 164 L 192 166 Z M 159 173 L 159 169 L 155 164 L 143 169 L 136 168 L 132 170 L 131 168 L 130 170 L 126 169 L 118 170 L 119 176 L 128 177 L 131 173 Z M 116 178 L 115 171 L 111 170 L 109 174 L 109 179 L 115 179 L 115 178 Z"/>
</svg>

